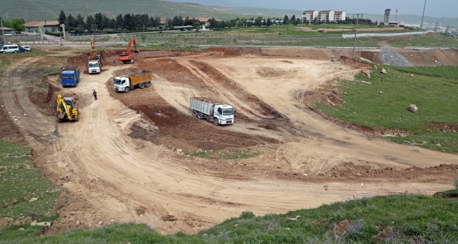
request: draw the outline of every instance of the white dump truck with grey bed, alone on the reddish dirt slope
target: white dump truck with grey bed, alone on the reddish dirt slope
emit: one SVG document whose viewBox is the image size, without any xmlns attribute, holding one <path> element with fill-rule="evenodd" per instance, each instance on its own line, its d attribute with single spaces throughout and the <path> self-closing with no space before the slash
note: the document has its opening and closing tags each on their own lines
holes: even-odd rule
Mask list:
<svg viewBox="0 0 458 244">
<path fill-rule="evenodd" d="M 224 102 L 211 103 L 205 97 L 191 97 L 189 108 L 192 116 L 206 119 L 214 125 L 231 125 L 234 123 L 235 110 Z"/>
</svg>

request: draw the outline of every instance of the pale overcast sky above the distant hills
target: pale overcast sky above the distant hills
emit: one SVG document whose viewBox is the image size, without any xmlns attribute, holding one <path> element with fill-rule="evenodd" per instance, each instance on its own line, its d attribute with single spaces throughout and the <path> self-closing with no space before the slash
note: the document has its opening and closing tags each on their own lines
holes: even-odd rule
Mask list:
<svg viewBox="0 0 458 244">
<path fill-rule="evenodd" d="M 201 3 L 206 6 L 274 8 L 288 10 L 342 10 L 348 13 L 423 14 L 425 0 L 167 0 L 181 3 Z M 458 0 L 427 0 L 425 15 L 458 18 Z"/>
</svg>

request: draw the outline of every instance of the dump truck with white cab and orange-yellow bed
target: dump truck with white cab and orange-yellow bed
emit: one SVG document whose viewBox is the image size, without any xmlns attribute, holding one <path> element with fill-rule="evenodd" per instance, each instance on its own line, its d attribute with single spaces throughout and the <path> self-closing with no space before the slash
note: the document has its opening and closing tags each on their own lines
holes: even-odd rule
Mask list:
<svg viewBox="0 0 458 244">
<path fill-rule="evenodd" d="M 123 74 L 121 77 L 115 77 L 113 83 L 115 84 L 115 91 L 127 93 L 135 87 L 140 89 L 148 88 L 151 85 L 151 81 L 152 72 L 143 70 L 135 74 Z"/>
</svg>

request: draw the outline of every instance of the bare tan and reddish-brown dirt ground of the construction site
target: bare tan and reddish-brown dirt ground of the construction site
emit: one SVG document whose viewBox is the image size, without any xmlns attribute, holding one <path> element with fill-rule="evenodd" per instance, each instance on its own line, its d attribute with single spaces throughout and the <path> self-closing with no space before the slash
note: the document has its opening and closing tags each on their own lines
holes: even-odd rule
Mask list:
<svg viewBox="0 0 458 244">
<path fill-rule="evenodd" d="M 451 60 L 441 50 L 408 52 Z M 456 154 L 391 143 L 310 108 L 341 102 L 333 85 L 367 67 L 341 57 L 349 50 L 149 50 L 133 65 L 111 65 L 119 53 L 104 51 L 101 74 L 85 70 L 75 88 L 61 88 L 58 74 L 43 78 L 43 90 L 21 79 L 28 64 L 53 57 L 17 60 L 1 77 L 1 139 L 30 146 L 34 165 L 63 189 L 59 220 L 46 233 L 112 222 L 195 233 L 243 211 L 259 216 L 380 194 L 433 194 L 450 189 L 458 174 Z M 87 55 L 68 63 L 84 68 Z M 377 59 L 373 50 L 358 55 Z M 153 72 L 149 88 L 114 91 L 113 77 L 137 70 Z M 77 100 L 79 121 L 57 123 L 58 93 Z M 192 96 L 233 105 L 235 123 L 192 117 Z M 215 157 L 185 154 L 196 151 Z M 242 152 L 257 156 L 218 157 Z"/>
</svg>

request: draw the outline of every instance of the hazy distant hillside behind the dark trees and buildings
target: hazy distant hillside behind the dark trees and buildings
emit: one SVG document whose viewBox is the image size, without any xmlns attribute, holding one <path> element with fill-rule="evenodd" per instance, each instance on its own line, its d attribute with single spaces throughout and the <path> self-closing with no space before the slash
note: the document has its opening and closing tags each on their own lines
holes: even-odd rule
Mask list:
<svg viewBox="0 0 458 244">
<path fill-rule="evenodd" d="M 27 7 L 24 7 L 27 6 Z M 203 6 L 199 3 L 175 3 L 170 1 L 121 1 L 121 0 L 100 0 L 100 1 L 12 1 L 8 8 L 0 9 L 0 16 L 4 19 L 21 18 L 26 22 L 40 20 L 55 20 L 59 12 L 63 10 L 66 14 L 76 16 L 81 14 L 83 17 L 88 14 L 101 12 L 107 17 L 116 17 L 119 14 L 148 14 L 149 16 L 173 17 L 181 15 L 183 17 L 208 17 L 215 19 L 234 19 L 236 17 L 296 17 L 302 16 L 303 9 L 297 10 L 277 10 L 268 8 L 240 8 L 240 7 L 221 7 L 221 6 Z M 347 10 L 347 16 L 352 17 L 351 10 Z M 364 14 L 364 17 L 373 21 L 381 21 L 383 14 Z M 395 16 L 392 15 L 392 20 Z M 405 23 L 419 23 L 419 15 L 398 15 L 397 20 Z M 426 23 L 441 23 L 443 26 L 458 27 L 458 18 L 424 18 Z"/>
</svg>

